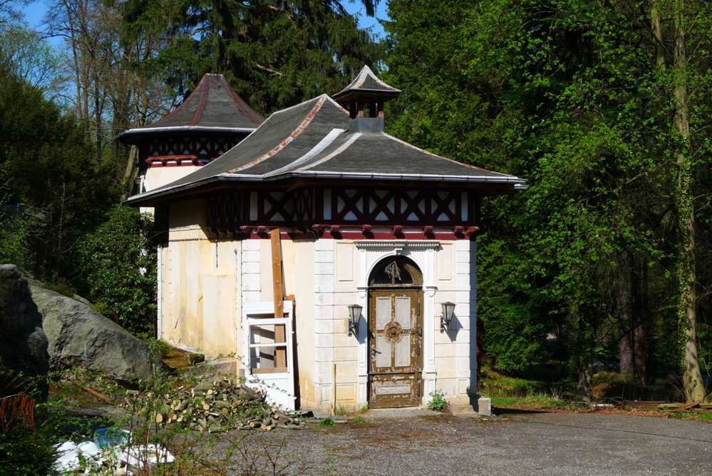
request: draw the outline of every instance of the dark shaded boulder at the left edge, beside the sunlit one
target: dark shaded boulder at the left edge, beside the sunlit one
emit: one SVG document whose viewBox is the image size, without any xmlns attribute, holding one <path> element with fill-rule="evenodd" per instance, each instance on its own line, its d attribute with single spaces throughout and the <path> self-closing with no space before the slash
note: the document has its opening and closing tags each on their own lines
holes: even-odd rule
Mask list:
<svg viewBox="0 0 712 476">
<path fill-rule="evenodd" d="M 0 329 L 0 366 L 28 376 L 47 373 L 42 316 L 16 265 L 0 265 Z"/>
</svg>

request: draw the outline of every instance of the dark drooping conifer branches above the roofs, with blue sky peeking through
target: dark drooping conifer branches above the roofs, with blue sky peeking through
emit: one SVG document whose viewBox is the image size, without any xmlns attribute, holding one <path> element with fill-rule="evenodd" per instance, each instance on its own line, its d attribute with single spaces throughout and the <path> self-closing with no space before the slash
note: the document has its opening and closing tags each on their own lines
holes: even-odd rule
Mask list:
<svg viewBox="0 0 712 476">
<path fill-rule="evenodd" d="M 160 77 L 178 96 L 202 74 L 225 74 L 262 113 L 339 91 L 363 64 L 380 59 L 378 45 L 339 1 L 126 4 L 125 39 L 157 32 L 167 37 L 165 48 L 136 68 Z"/>
</svg>

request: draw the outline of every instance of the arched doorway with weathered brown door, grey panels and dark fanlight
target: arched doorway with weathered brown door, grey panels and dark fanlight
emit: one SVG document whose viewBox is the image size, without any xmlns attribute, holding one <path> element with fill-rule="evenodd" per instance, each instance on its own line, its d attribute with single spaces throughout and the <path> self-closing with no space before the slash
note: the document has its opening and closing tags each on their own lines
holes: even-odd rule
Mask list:
<svg viewBox="0 0 712 476">
<path fill-rule="evenodd" d="M 396 255 L 368 276 L 368 406 L 412 407 L 423 397 L 423 274 Z"/>
</svg>

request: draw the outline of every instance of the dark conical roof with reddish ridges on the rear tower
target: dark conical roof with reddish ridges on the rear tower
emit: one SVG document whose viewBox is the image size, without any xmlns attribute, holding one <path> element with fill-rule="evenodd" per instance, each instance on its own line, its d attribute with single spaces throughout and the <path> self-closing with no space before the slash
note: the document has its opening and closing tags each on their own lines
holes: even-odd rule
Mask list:
<svg viewBox="0 0 712 476">
<path fill-rule="evenodd" d="M 159 121 L 128 129 L 118 136 L 130 140 L 148 133 L 181 131 L 254 131 L 264 118 L 232 91 L 222 74 L 205 74 L 200 83 L 174 111 Z"/>
</svg>

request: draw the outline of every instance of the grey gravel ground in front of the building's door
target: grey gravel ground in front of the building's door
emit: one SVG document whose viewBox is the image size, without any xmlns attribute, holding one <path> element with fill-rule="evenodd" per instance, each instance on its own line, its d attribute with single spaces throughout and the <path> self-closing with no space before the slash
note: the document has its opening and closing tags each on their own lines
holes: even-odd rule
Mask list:
<svg viewBox="0 0 712 476">
<path fill-rule="evenodd" d="M 322 429 L 250 432 L 246 445 L 252 455 L 265 448 L 279 453 L 279 465 L 291 463 L 286 474 L 712 475 L 712 425 L 702 422 L 567 412 L 475 420 L 423 410 L 365 418 Z M 243 435 L 226 433 L 222 445 Z M 219 455 L 225 446 L 215 450 Z"/>
</svg>

